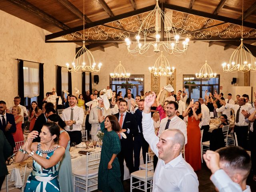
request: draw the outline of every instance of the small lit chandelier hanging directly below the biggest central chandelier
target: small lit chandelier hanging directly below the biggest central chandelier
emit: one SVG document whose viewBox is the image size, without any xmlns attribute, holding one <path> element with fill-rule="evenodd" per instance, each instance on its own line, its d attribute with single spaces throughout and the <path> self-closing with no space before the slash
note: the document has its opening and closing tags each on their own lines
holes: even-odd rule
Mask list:
<svg viewBox="0 0 256 192">
<path fill-rule="evenodd" d="M 163 55 L 163 51 L 161 51 L 161 55 L 156 59 L 156 62 L 153 67 L 148 68 L 149 72 L 152 73 L 155 77 L 158 76 L 172 76 L 175 68 L 170 68 L 170 64 L 166 56 Z"/>
</svg>

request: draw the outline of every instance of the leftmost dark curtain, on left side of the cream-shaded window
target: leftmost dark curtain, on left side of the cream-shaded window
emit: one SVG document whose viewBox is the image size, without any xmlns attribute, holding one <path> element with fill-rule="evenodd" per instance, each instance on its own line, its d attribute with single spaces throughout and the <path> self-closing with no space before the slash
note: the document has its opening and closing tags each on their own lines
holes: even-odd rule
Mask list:
<svg viewBox="0 0 256 192">
<path fill-rule="evenodd" d="M 20 104 L 24 106 L 23 60 L 18 60 L 18 95 L 20 96 Z"/>
</svg>

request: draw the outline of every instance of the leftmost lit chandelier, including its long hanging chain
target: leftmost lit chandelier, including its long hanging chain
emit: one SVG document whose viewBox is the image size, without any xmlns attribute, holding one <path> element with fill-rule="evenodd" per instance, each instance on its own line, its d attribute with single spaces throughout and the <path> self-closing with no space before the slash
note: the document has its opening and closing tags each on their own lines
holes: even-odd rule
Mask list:
<svg viewBox="0 0 256 192">
<path fill-rule="evenodd" d="M 83 9 L 84 9 L 84 6 L 83 6 Z M 84 14 L 83 14 L 83 22 L 85 24 Z M 98 72 L 100 72 L 100 68 L 102 66 L 102 63 L 99 63 L 98 68 L 96 68 L 96 63 L 95 63 L 94 57 L 92 55 L 92 52 L 90 52 L 90 50 L 88 50 L 85 46 L 84 29 L 83 29 L 83 35 L 82 36 L 83 36 L 83 46 L 76 53 L 76 55 L 74 57 L 74 60 L 72 62 L 72 66 L 70 67 L 69 64 L 66 63 L 67 69 L 68 69 L 69 72 L 77 72 L 77 73 L 82 73 L 82 72 L 91 73 L 91 72 L 94 72 L 94 73 L 98 73 Z M 85 54 L 88 58 L 88 64 L 86 64 L 86 62 L 85 62 Z"/>
</svg>

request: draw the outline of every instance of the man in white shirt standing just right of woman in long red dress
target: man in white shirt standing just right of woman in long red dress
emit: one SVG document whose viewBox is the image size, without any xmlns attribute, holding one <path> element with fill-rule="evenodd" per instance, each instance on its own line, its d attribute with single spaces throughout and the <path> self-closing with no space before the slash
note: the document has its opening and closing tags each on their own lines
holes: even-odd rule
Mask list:
<svg viewBox="0 0 256 192">
<path fill-rule="evenodd" d="M 199 123 L 200 130 L 204 130 L 202 141 L 209 141 L 210 136 L 208 134 L 208 131 L 210 129 L 210 110 L 209 108 L 204 104 L 204 99 L 199 98 L 198 102 L 201 104 L 201 112 L 202 112 L 202 118 Z"/>
</svg>

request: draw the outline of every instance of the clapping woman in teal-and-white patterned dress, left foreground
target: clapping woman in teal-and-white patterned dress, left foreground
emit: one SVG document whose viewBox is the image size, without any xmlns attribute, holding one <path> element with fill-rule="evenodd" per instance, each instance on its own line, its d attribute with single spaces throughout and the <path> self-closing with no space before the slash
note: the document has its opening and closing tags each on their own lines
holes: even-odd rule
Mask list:
<svg viewBox="0 0 256 192">
<path fill-rule="evenodd" d="M 58 170 L 65 149 L 59 146 L 60 127 L 53 122 L 45 123 L 40 133 L 41 142 L 32 143 L 37 131 L 28 134 L 25 144 L 15 157 L 15 162 L 33 158 L 33 170 L 28 176 L 25 192 L 59 192 Z"/>
</svg>

